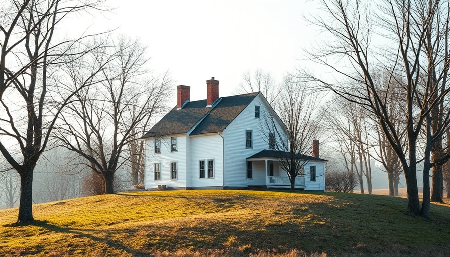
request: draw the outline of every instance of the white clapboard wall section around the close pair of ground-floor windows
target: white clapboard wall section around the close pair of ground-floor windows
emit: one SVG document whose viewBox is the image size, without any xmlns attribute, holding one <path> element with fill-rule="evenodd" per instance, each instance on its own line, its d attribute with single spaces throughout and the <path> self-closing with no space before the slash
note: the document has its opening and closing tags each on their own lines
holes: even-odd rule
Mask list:
<svg viewBox="0 0 450 257">
<path fill-rule="evenodd" d="M 223 145 L 218 133 L 191 137 L 190 185 L 188 187 L 223 186 Z M 200 178 L 199 161 L 205 160 L 205 177 Z M 208 178 L 208 160 L 214 160 L 214 177 Z"/>
</svg>

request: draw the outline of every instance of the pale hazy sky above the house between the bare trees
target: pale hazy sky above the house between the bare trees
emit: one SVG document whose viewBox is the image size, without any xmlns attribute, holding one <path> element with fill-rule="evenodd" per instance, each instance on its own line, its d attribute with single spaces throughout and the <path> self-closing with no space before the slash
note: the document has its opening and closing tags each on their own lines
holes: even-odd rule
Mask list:
<svg viewBox="0 0 450 257">
<path fill-rule="evenodd" d="M 107 4 L 117 8 L 106 18 L 81 18 L 90 29 L 119 27 L 118 33 L 140 38 L 148 46 L 150 68 L 157 73 L 170 70 L 176 85 L 191 87 L 191 100 L 206 98 L 206 80 L 211 77 L 220 80 L 220 96 L 232 95 L 247 70 L 263 69 L 281 80 L 302 65 L 302 48 L 310 48 L 317 34 L 303 18 L 317 12 L 306 0 Z"/>
</svg>

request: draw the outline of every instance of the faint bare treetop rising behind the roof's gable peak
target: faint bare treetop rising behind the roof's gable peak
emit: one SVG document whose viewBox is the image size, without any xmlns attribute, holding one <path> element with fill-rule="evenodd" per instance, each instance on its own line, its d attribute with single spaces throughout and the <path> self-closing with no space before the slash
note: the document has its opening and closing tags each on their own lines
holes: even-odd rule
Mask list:
<svg viewBox="0 0 450 257">
<path fill-rule="evenodd" d="M 243 82 L 239 83 L 236 89 L 238 94 L 261 92 L 271 105 L 280 94 L 275 79 L 269 72 L 264 72 L 262 69 L 257 69 L 253 74 L 250 70 L 244 72 L 242 80 Z"/>
</svg>

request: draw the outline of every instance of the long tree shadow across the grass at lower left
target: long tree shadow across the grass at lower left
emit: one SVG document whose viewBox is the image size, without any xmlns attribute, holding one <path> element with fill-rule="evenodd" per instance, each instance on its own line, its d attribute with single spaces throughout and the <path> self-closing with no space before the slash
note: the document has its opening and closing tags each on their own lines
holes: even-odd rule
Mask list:
<svg viewBox="0 0 450 257">
<path fill-rule="evenodd" d="M 117 249 L 117 250 L 123 250 L 123 251 L 125 251 L 133 256 L 136 256 L 136 257 L 149 256 L 149 252 L 131 249 L 120 242 L 114 241 L 111 238 L 100 238 L 100 237 L 96 237 L 91 234 L 85 233 L 85 232 L 98 232 L 98 230 L 95 230 L 95 229 L 65 228 L 65 227 L 52 225 L 47 220 L 35 221 L 35 222 L 33 222 L 33 225 L 37 226 L 37 227 L 42 227 L 42 228 L 45 228 L 45 229 L 48 229 L 48 230 L 51 230 L 54 232 L 73 234 L 73 238 L 85 237 L 85 238 L 88 238 L 90 240 L 93 240 L 93 241 L 96 241 L 99 243 L 105 243 L 110 248 Z"/>
</svg>

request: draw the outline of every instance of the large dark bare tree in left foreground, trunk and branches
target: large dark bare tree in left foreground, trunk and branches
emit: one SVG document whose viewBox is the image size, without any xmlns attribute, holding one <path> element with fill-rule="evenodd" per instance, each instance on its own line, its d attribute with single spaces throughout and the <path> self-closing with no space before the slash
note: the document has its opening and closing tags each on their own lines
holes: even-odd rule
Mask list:
<svg viewBox="0 0 450 257">
<path fill-rule="evenodd" d="M 20 175 L 18 223 L 34 220 L 33 171 L 57 116 L 76 90 L 88 86 L 59 88 L 62 98 L 53 98 L 58 67 L 74 46 L 83 47 L 72 52 L 71 59 L 97 48 L 82 44 L 87 36 L 59 40 L 56 27 L 71 13 L 100 10 L 101 4 L 101 0 L 8 0 L 0 7 L 0 152 Z"/>
</svg>

